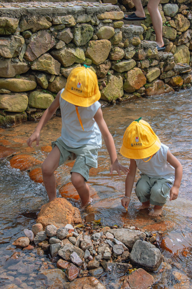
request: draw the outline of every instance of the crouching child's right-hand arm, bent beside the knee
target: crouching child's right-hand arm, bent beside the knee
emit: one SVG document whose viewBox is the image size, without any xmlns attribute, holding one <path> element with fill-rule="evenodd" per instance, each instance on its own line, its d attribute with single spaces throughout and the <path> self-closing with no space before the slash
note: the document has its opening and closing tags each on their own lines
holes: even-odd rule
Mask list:
<svg viewBox="0 0 192 289">
<path fill-rule="evenodd" d="M 179 194 L 183 168 L 179 160 L 176 159 L 176 157 L 174 157 L 174 155 L 170 152 L 170 150 L 167 151 L 167 161 L 168 163 L 170 163 L 171 166 L 175 168 L 175 181 L 173 187 L 170 189 L 170 201 L 171 201 L 175 200 Z"/>
</svg>

